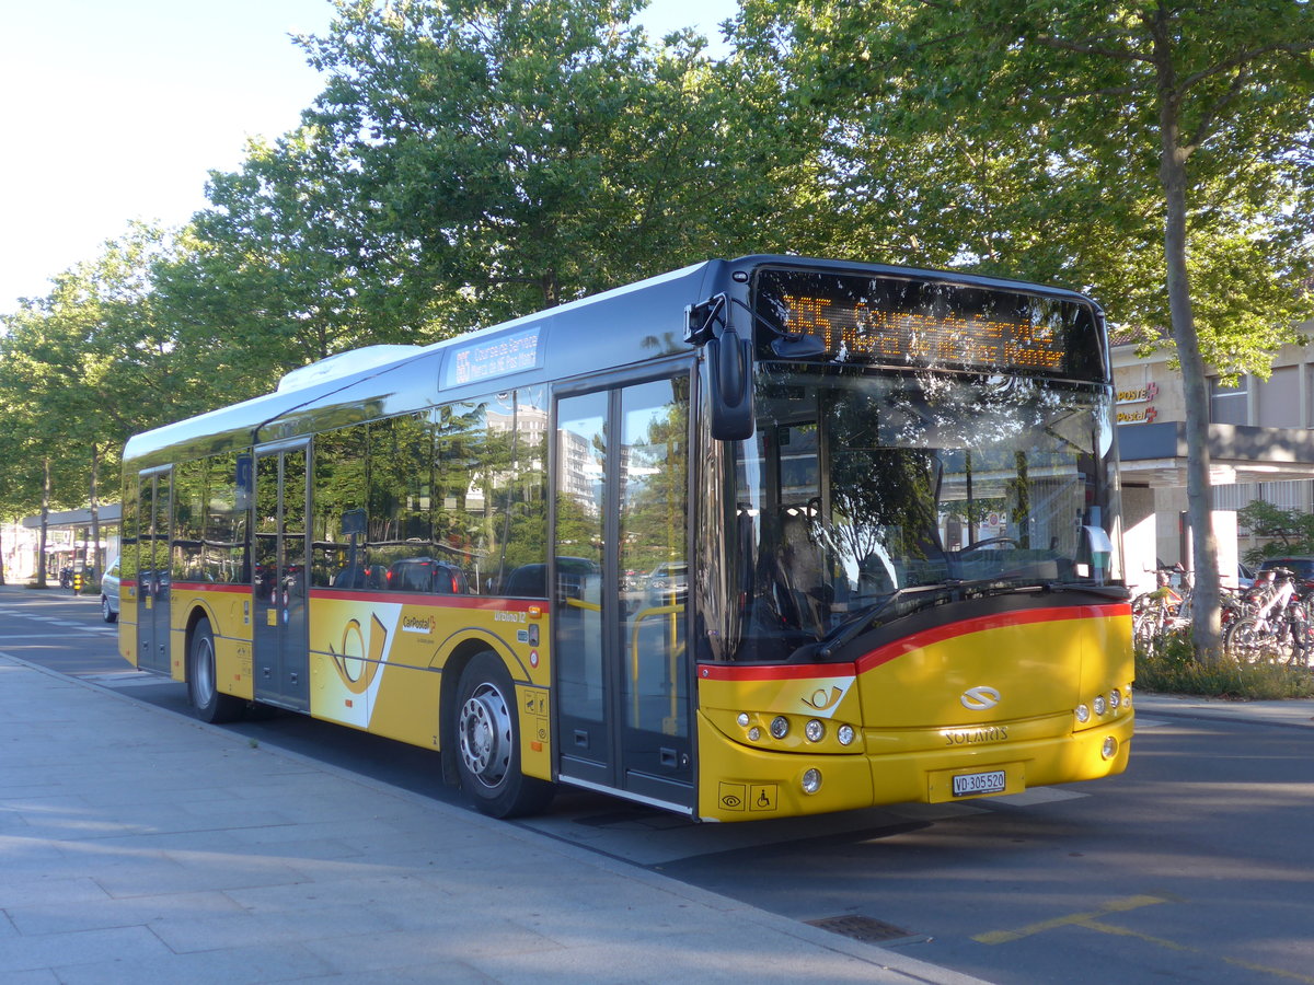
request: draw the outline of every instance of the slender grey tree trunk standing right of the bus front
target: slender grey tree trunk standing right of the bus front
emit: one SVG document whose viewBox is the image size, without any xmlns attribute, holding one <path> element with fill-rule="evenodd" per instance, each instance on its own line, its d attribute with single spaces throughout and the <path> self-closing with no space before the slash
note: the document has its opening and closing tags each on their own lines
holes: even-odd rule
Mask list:
<svg viewBox="0 0 1314 985">
<path fill-rule="evenodd" d="M 1218 590 L 1218 544 L 1214 538 L 1214 491 L 1209 485 L 1209 389 L 1200 355 L 1196 318 L 1187 274 L 1187 158 L 1180 146 L 1177 96 L 1171 60 L 1159 64 L 1159 122 L 1162 159 L 1159 177 L 1167 200 L 1164 256 L 1168 269 L 1168 310 L 1172 338 L 1181 362 L 1187 418 L 1187 520 L 1192 532 L 1192 567 L 1196 591 L 1192 604 L 1192 640 L 1206 662 L 1222 658 L 1222 615 Z"/>
</svg>

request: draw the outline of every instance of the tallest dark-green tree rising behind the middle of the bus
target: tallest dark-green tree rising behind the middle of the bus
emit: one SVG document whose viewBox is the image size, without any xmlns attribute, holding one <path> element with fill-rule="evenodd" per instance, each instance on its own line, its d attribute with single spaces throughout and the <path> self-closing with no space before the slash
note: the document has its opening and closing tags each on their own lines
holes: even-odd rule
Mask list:
<svg viewBox="0 0 1314 985">
<path fill-rule="evenodd" d="M 769 150 L 702 55 L 636 0 L 343 3 L 304 41 L 305 114 L 371 242 L 455 328 L 750 240 Z"/>
</svg>

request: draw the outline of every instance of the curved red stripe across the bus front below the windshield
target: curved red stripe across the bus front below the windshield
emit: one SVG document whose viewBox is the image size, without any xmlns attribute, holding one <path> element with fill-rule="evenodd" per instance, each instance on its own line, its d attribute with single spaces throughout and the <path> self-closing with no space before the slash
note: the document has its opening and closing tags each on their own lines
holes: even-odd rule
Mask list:
<svg viewBox="0 0 1314 985">
<path fill-rule="evenodd" d="M 1117 616 L 1130 616 L 1131 605 L 1116 603 L 1110 605 L 1060 605 L 1045 609 L 1024 609 L 1021 612 L 1003 612 L 992 616 L 979 616 L 966 619 L 959 623 L 947 623 L 934 629 L 925 629 L 920 633 L 895 640 L 882 647 L 872 650 L 857 659 L 855 663 L 807 663 L 787 666 L 736 666 L 732 663 L 702 663 L 698 667 L 698 676 L 703 680 L 804 680 L 809 678 L 844 678 L 869 671 L 883 663 L 897 659 L 905 653 L 932 646 L 934 644 L 953 640 L 959 636 L 971 636 L 988 629 L 1003 629 L 1007 626 L 1031 625 L 1035 623 L 1063 623 L 1074 619 L 1113 619 Z"/>
</svg>

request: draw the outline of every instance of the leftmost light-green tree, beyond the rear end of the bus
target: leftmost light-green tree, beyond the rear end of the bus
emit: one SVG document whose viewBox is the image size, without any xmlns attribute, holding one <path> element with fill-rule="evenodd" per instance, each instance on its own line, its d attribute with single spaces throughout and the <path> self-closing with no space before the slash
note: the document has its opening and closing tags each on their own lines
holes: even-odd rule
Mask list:
<svg viewBox="0 0 1314 985">
<path fill-rule="evenodd" d="M 4 503 L 43 516 L 89 503 L 97 571 L 99 503 L 127 437 L 230 399 L 215 372 L 222 355 L 159 317 L 151 272 L 180 248 L 134 225 L 4 319 L 0 408 L 13 435 L 0 448 Z"/>
</svg>

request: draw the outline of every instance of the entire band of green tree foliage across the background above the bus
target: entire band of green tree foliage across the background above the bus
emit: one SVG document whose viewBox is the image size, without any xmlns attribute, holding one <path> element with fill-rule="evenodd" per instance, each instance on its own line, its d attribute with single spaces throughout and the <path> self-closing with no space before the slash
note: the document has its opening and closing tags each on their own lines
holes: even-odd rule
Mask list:
<svg viewBox="0 0 1314 985">
<path fill-rule="evenodd" d="M 707 256 L 971 267 L 1163 327 L 1164 106 L 1205 357 L 1264 372 L 1310 310 L 1298 0 L 744 0 L 723 62 L 648 39 L 639 0 L 335 8 L 298 39 L 325 88 L 297 129 L 212 175 L 188 229 L 133 227 L 5 318 L 0 511 L 33 510 L 47 457 L 79 504 L 127 435 L 305 362 Z"/>
</svg>

